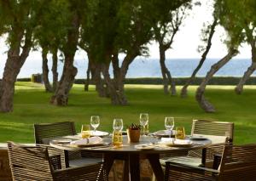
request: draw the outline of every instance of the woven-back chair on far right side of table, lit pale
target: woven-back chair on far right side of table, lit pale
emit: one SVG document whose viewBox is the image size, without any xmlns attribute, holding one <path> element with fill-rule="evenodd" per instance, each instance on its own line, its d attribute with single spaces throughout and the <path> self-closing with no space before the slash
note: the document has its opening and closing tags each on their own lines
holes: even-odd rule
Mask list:
<svg viewBox="0 0 256 181">
<path fill-rule="evenodd" d="M 212 144 L 214 143 L 214 139 L 218 139 L 219 142 L 223 142 L 223 144 L 229 143 L 231 144 L 233 141 L 233 132 L 234 132 L 234 123 L 233 122 L 211 122 L 205 120 L 193 120 L 191 135 L 192 136 L 203 136 L 208 139 L 212 139 Z M 219 154 L 222 153 L 222 149 L 212 147 L 212 152 Z M 217 149 L 217 150 L 216 150 Z M 207 154 L 208 153 L 208 154 Z M 206 162 L 208 162 L 208 157 L 210 150 L 191 150 L 187 155 L 183 156 L 170 156 L 164 157 L 160 159 L 161 165 L 165 166 L 166 161 L 172 161 L 177 163 L 186 163 L 193 166 L 201 166 L 204 167 Z"/>
</svg>

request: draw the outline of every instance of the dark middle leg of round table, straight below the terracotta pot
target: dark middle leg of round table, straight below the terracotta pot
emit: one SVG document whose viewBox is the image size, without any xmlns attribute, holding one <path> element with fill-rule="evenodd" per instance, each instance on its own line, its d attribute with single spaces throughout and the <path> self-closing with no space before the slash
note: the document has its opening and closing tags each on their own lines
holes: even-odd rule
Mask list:
<svg viewBox="0 0 256 181">
<path fill-rule="evenodd" d="M 138 154 L 131 154 L 129 158 L 130 177 L 131 181 L 140 180 L 140 156 Z"/>
</svg>

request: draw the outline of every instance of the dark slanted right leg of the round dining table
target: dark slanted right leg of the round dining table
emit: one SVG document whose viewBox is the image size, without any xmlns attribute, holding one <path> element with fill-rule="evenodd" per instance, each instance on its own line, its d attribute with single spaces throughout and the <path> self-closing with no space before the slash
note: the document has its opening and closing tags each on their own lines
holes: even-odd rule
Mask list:
<svg viewBox="0 0 256 181">
<path fill-rule="evenodd" d="M 148 161 L 154 171 L 154 176 L 158 181 L 162 181 L 165 178 L 163 169 L 160 165 L 159 155 L 158 154 L 148 154 L 147 155 Z"/>
</svg>

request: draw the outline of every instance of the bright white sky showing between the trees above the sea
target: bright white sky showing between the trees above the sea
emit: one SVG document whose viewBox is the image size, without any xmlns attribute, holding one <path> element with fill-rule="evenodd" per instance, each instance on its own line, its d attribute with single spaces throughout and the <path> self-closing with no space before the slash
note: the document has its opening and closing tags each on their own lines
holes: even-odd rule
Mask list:
<svg viewBox="0 0 256 181">
<path fill-rule="evenodd" d="M 201 28 L 203 23 L 207 20 L 212 20 L 212 9 L 207 8 L 207 4 L 211 1 L 201 1 L 201 7 L 196 7 L 192 11 L 192 14 L 183 22 L 180 31 L 177 32 L 174 42 L 172 44 L 172 49 L 166 52 L 167 59 L 199 59 L 201 54 L 197 52 L 198 45 L 200 42 Z M 222 27 L 217 28 L 216 33 L 212 39 L 212 48 L 207 56 L 207 58 L 221 58 L 227 54 L 226 47 L 221 41 L 224 39 L 225 33 Z M 240 54 L 236 58 L 248 59 L 251 57 L 250 48 L 248 45 L 243 45 L 240 49 Z M 0 39 L 0 66 L 3 66 L 3 60 L 6 59 L 7 47 L 3 41 Z M 75 59 L 84 59 L 86 54 L 83 51 L 78 51 L 76 53 Z M 149 46 L 149 58 L 159 58 L 158 45 L 155 42 Z M 28 59 L 41 59 L 40 52 L 31 52 Z"/>
</svg>

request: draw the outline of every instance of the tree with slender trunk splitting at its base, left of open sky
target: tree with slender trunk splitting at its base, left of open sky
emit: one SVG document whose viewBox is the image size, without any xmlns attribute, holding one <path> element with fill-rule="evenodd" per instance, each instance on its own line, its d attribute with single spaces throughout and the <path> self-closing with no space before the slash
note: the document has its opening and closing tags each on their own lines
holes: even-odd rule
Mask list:
<svg viewBox="0 0 256 181">
<path fill-rule="evenodd" d="M 170 3 L 170 4 L 166 4 Z M 172 9 L 176 1 L 157 1 L 152 4 L 155 8 L 150 18 L 153 23 L 154 37 L 159 43 L 160 67 L 163 76 L 164 93 L 168 94 L 168 85 L 170 84 L 172 95 L 176 94 L 175 82 L 172 79 L 171 72 L 166 66 L 166 50 L 171 48 L 173 39 L 182 25 L 183 20 L 188 15 L 188 9 L 191 8 L 190 1 L 183 1 L 183 4 Z"/>
</svg>

